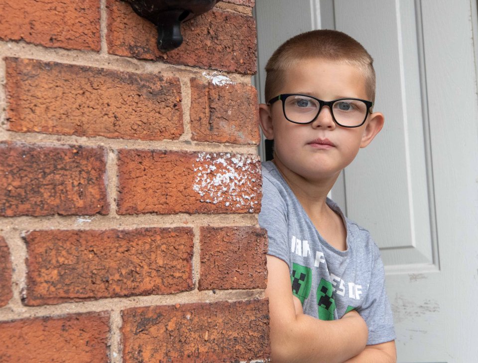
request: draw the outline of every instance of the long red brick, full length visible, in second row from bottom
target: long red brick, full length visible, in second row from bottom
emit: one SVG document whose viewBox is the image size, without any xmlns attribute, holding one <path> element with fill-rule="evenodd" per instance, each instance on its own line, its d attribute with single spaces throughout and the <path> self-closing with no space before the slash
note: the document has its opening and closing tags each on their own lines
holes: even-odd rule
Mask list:
<svg viewBox="0 0 478 363">
<path fill-rule="evenodd" d="M 194 288 L 191 228 L 45 230 L 25 241 L 26 305 Z"/>
</svg>

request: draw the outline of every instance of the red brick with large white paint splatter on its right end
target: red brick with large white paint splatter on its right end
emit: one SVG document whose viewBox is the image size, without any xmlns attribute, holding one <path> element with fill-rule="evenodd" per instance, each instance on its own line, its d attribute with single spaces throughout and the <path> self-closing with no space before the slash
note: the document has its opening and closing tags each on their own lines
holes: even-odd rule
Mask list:
<svg viewBox="0 0 478 363">
<path fill-rule="evenodd" d="M 255 213 L 260 163 L 254 155 L 119 151 L 119 214 Z"/>
</svg>

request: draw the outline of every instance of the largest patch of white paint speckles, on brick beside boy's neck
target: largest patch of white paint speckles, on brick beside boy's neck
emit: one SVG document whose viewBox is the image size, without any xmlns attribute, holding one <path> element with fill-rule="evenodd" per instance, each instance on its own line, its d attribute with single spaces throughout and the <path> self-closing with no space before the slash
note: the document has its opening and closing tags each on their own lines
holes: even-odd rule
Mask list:
<svg viewBox="0 0 478 363">
<path fill-rule="evenodd" d="M 256 156 L 235 155 L 230 153 L 200 153 L 193 165 L 196 178 L 193 190 L 201 196 L 202 202 L 223 203 L 233 209 L 247 206 L 253 210 L 257 200 L 258 187 L 251 171 L 257 172 Z"/>
</svg>

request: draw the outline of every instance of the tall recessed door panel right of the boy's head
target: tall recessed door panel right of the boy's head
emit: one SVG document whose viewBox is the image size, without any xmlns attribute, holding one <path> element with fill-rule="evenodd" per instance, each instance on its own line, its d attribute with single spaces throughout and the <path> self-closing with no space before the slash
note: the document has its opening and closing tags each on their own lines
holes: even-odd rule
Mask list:
<svg viewBox="0 0 478 363">
<path fill-rule="evenodd" d="M 374 21 L 356 21 L 366 14 Z M 361 20 L 363 18 L 359 16 Z M 429 200 L 431 165 L 426 78 L 421 42 L 421 16 L 413 1 L 335 1 L 336 29 L 363 44 L 374 57 L 377 74 L 375 111 L 385 114 L 385 127 L 345 172 L 347 213 L 366 226 L 382 249 L 386 266 L 421 271 L 432 268 L 436 240 Z M 377 31 L 379 29 L 379 31 Z M 420 47 L 419 47 L 420 46 Z M 380 173 L 377 173 L 380 171 Z M 391 229 L 391 227 L 394 227 Z"/>
</svg>

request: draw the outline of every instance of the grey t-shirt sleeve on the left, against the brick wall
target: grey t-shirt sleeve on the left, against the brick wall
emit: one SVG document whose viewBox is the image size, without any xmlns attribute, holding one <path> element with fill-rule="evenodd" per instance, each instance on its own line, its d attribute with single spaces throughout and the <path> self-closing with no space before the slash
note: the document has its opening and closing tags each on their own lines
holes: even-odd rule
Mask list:
<svg viewBox="0 0 478 363">
<path fill-rule="evenodd" d="M 259 225 L 267 230 L 267 254 L 283 260 L 290 269 L 287 233 L 287 205 L 277 187 L 267 177 L 262 177 L 262 201 Z"/>
</svg>

